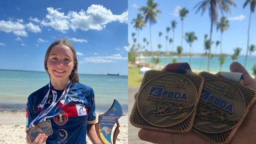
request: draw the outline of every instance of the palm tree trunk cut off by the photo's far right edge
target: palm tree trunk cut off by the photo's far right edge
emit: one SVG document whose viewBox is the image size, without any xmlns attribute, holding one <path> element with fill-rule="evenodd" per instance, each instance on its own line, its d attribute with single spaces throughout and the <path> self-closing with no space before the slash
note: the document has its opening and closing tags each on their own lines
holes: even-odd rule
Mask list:
<svg viewBox="0 0 256 144">
<path fill-rule="evenodd" d="M 250 23 L 251 23 L 251 13 L 254 13 L 255 10 L 255 5 L 256 5 L 256 0 L 246 0 L 245 3 L 243 4 L 243 8 L 247 6 L 247 4 L 250 3 L 250 18 L 249 18 L 249 26 L 248 26 L 248 35 L 247 35 L 247 46 L 246 46 L 246 56 L 245 56 L 245 61 L 244 61 L 244 67 L 246 66 L 246 60 L 248 56 L 248 50 L 249 50 L 249 36 L 250 36 Z"/>
</svg>

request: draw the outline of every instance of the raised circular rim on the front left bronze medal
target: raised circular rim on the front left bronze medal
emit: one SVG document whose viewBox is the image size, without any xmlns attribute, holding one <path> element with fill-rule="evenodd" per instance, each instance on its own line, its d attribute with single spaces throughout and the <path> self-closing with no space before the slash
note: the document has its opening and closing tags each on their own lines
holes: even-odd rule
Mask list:
<svg viewBox="0 0 256 144">
<path fill-rule="evenodd" d="M 151 71 L 155 71 L 155 70 L 151 70 Z M 159 72 L 164 72 L 164 71 L 159 71 Z M 165 76 L 165 75 L 176 75 L 176 76 L 180 76 L 180 77 L 185 78 L 186 80 L 188 80 L 188 81 L 193 85 L 193 88 L 194 88 L 194 90 L 195 90 L 195 96 L 196 96 L 196 98 L 195 98 L 195 105 L 194 105 L 193 109 L 190 111 L 190 113 L 187 115 L 187 117 L 183 118 L 181 121 L 179 121 L 179 122 L 177 122 L 177 123 L 175 123 L 175 124 L 157 125 L 157 124 L 153 124 L 153 123 L 149 122 L 146 118 L 143 117 L 143 115 L 141 114 L 141 111 L 140 111 L 140 109 L 139 109 L 139 100 L 138 100 L 138 99 L 139 99 L 139 97 L 140 97 L 140 95 L 141 95 L 142 90 L 144 89 L 144 87 L 145 87 L 150 81 L 152 81 L 152 80 L 154 80 L 154 79 L 157 79 L 158 77 Z M 146 76 L 146 75 L 145 75 L 145 76 Z M 145 77 L 145 78 L 146 78 L 146 77 Z M 197 90 L 196 90 L 196 87 L 195 87 L 194 83 L 193 83 L 190 79 L 188 79 L 187 77 L 185 77 L 185 76 L 183 76 L 183 75 L 181 75 L 181 74 L 179 74 L 179 73 L 173 73 L 173 72 L 168 72 L 168 73 L 160 74 L 160 75 L 158 75 L 157 77 L 155 77 L 154 79 L 150 79 L 147 83 L 144 84 L 144 78 L 143 78 L 143 81 L 141 82 L 141 83 L 143 83 L 144 85 L 141 85 L 141 86 L 142 86 L 142 87 L 140 88 L 141 90 L 138 92 L 137 98 L 136 98 L 136 100 L 135 100 L 136 107 L 137 107 L 137 109 L 138 109 L 139 114 L 141 115 L 141 118 L 143 118 L 148 124 L 151 124 L 151 125 L 154 125 L 154 126 L 157 126 L 157 127 L 169 127 L 169 126 L 174 126 L 174 125 L 177 125 L 177 124 L 182 123 L 184 120 L 186 120 L 187 118 L 189 118 L 189 116 L 191 116 L 191 115 L 193 114 L 193 112 L 195 111 L 195 109 L 196 109 L 196 107 L 197 107 L 197 104 L 198 104 L 198 101 L 199 101 L 199 95 L 198 95 L 198 92 L 197 92 Z"/>
</svg>

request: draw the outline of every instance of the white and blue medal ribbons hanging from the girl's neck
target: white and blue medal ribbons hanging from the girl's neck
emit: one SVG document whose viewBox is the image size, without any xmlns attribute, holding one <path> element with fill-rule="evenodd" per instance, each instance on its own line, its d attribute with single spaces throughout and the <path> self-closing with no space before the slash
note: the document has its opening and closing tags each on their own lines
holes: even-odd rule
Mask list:
<svg viewBox="0 0 256 144">
<path fill-rule="evenodd" d="M 45 97 L 43 98 L 42 102 L 40 103 L 35 118 L 32 120 L 32 122 L 30 123 L 29 127 L 34 127 L 34 123 L 38 124 L 42 121 L 45 121 L 46 118 L 51 118 L 56 116 L 57 114 L 60 113 L 65 100 L 67 98 L 67 92 L 69 91 L 71 82 L 70 80 L 68 80 L 68 83 L 65 87 L 64 92 L 62 93 L 61 97 L 56 101 L 57 99 L 57 92 L 54 89 L 53 85 L 51 84 L 51 82 L 48 84 L 49 86 L 49 90 L 47 92 L 47 94 L 45 95 Z M 50 90 L 53 92 L 53 102 L 49 107 L 44 107 L 46 100 L 49 96 Z M 58 104 L 59 103 L 59 104 Z M 49 113 L 50 112 L 50 113 Z M 47 114 L 49 113 L 49 116 L 47 116 Z"/>
</svg>

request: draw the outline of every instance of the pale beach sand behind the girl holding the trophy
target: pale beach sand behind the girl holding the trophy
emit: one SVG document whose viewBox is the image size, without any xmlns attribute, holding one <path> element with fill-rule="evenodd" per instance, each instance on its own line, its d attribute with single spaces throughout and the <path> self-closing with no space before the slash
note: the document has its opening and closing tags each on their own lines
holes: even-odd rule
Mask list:
<svg viewBox="0 0 256 144">
<path fill-rule="evenodd" d="M 128 116 L 122 116 L 118 121 L 120 133 L 116 139 L 116 144 L 128 144 Z M 0 144 L 27 144 L 25 127 L 25 112 L 0 112 Z M 114 130 L 115 127 L 112 133 Z M 89 139 L 87 139 L 87 143 L 92 144 Z"/>
</svg>

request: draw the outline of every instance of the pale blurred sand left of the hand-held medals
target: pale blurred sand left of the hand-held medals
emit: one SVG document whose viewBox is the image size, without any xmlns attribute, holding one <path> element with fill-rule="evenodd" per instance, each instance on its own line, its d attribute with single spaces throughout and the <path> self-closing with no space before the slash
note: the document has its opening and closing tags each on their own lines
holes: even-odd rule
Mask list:
<svg viewBox="0 0 256 144">
<path fill-rule="evenodd" d="M 128 88 L 128 116 L 133 109 L 133 105 L 135 102 L 134 95 L 139 91 L 139 87 L 129 87 Z M 129 119 L 129 118 L 128 118 Z M 138 132 L 140 128 L 133 126 L 130 122 L 128 122 L 128 142 L 129 144 L 152 144 L 146 141 L 142 141 L 138 137 Z"/>
</svg>

